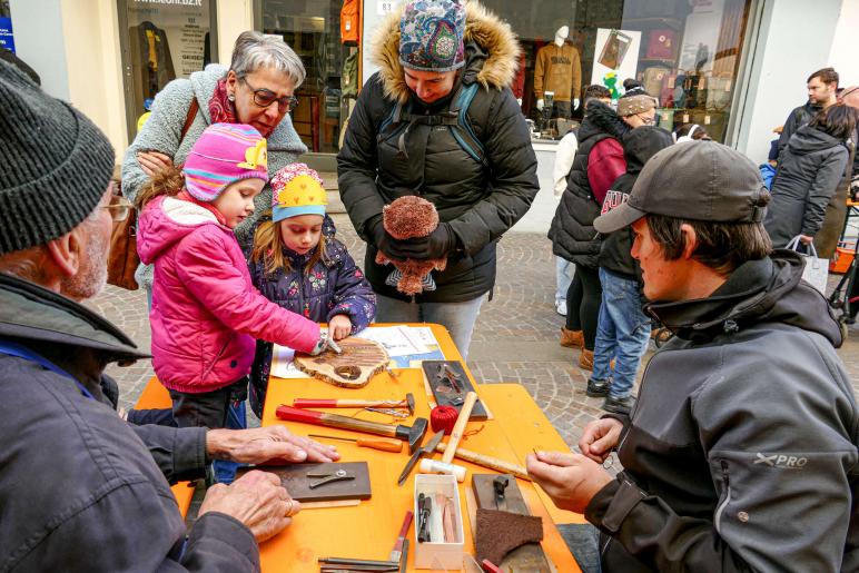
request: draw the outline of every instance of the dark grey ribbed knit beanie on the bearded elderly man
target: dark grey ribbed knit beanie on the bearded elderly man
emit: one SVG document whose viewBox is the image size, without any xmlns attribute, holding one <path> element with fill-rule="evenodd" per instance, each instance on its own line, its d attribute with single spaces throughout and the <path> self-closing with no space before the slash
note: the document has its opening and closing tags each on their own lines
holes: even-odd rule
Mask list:
<svg viewBox="0 0 859 573">
<path fill-rule="evenodd" d="M 0 255 L 77 227 L 105 195 L 113 160 L 80 111 L 0 61 Z"/>
</svg>

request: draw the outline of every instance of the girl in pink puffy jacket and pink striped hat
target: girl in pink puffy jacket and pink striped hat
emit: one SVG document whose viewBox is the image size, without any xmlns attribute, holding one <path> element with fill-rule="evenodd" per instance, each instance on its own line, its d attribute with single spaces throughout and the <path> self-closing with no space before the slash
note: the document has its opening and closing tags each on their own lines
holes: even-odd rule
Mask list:
<svg viewBox="0 0 859 573">
<path fill-rule="evenodd" d="M 247 393 L 255 338 L 310 354 L 326 346 L 317 323 L 254 288 L 233 234 L 267 180 L 263 136 L 215 124 L 181 172 L 160 172 L 138 196 L 137 250 L 155 264 L 152 366 L 179 427 L 225 426 L 230 396 Z"/>
</svg>

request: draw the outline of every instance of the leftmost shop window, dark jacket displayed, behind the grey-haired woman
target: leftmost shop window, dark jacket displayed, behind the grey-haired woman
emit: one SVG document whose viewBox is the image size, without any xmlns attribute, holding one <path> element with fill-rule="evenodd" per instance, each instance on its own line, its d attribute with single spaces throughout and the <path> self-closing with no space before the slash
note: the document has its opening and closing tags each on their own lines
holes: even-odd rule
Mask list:
<svg viewBox="0 0 859 573">
<path fill-rule="evenodd" d="M 129 138 L 164 87 L 217 61 L 215 0 L 118 0 Z"/>
</svg>

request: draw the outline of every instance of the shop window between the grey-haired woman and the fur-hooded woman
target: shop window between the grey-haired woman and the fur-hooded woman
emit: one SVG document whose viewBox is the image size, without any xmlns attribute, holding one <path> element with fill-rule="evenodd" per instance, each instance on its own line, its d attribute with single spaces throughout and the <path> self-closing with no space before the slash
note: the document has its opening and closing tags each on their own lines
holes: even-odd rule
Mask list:
<svg viewBox="0 0 859 573">
<path fill-rule="evenodd" d="M 261 0 L 257 30 L 279 36 L 302 58 L 307 79 L 298 89 L 293 125 L 313 152 L 336 154 L 349 105 L 357 96 L 361 2 Z"/>
</svg>

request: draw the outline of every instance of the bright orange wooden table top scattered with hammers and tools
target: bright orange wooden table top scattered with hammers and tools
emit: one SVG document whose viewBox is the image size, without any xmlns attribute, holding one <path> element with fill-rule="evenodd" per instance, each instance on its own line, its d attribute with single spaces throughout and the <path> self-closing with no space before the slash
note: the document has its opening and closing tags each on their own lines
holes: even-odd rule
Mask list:
<svg viewBox="0 0 859 573">
<path fill-rule="evenodd" d="M 432 326 L 433 334 L 446 359 L 462 359 L 444 327 L 426 326 Z M 471 373 L 467 368 L 465 371 L 471 378 Z M 283 422 L 275 417 L 275 409 L 280 404 L 292 404 L 296 397 L 402 399 L 408 392 L 414 394 L 417 403 L 415 415 L 428 418 L 430 407 L 421 371 L 403 368 L 398 369 L 397 374 L 396 377 L 392 378 L 383 372 L 374 376 L 367 386 L 358 389 L 338 388 L 313 378 L 283 379 L 273 377 L 266 395 L 263 425 L 284 424 L 293 433 L 300 435 L 323 433 L 344 437 L 369 436 L 343 429 Z M 525 455 L 534 447 L 569 451 L 561 436 L 522 386 L 517 384 L 485 384 L 477 386 L 477 394 L 488 406 L 494 418 L 468 423 L 466 432 L 481 427 L 482 429 L 464 438 L 461 442 L 461 447 L 519 465 L 524 465 Z M 352 415 L 356 411 L 339 409 L 336 412 Z M 391 422 L 389 416 L 371 412 L 363 412 L 359 417 L 376 422 Z M 411 419 L 405 423 L 411 425 Z M 427 431 L 427 436 L 430 435 L 432 432 Z M 342 462 L 368 462 L 373 497 L 357 506 L 307 510 L 296 515 L 290 527 L 260 545 L 263 571 L 269 573 L 275 571 L 316 572 L 319 570 L 317 559 L 326 556 L 386 560 L 396 541 L 405 512 L 413 508 L 414 476 L 417 468 L 403 486 L 396 484 L 397 476 L 408 461 L 408 448 L 405 444 L 403 452 L 395 454 L 366 447 L 358 448 L 347 442 L 327 441 L 326 443 L 337 446 Z M 436 455 L 436 458 L 438 457 L 441 455 Z M 467 515 L 465 490 L 471 487 L 471 475 L 475 472 L 493 473 L 493 471 L 465 463 L 462 460 L 454 462 L 468 468 L 465 482 L 460 484 L 461 510 L 463 515 Z M 557 571 L 564 573 L 580 571 L 554 524 L 582 523 L 582 516 L 557 510 L 545 493 L 531 482 L 517 480 L 517 483 L 531 513 L 543 517 L 544 539 L 542 545 L 550 561 Z M 474 543 L 468 518 L 465 517 L 464 520 L 465 551 L 473 554 Z M 409 528 L 408 540 L 412 545 L 408 570 L 412 571 L 415 552 L 414 522 Z"/>
</svg>

